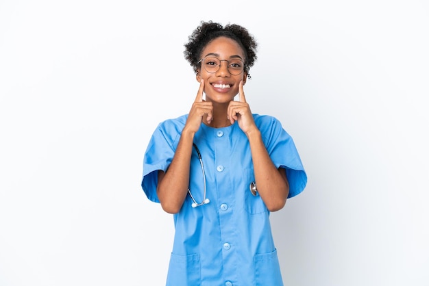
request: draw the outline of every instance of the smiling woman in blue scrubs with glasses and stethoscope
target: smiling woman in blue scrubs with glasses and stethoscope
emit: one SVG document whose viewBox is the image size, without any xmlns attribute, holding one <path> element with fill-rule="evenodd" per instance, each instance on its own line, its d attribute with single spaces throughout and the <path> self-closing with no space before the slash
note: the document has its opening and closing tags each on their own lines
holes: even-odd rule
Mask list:
<svg viewBox="0 0 429 286">
<path fill-rule="evenodd" d="M 158 125 L 143 164 L 145 194 L 174 214 L 167 285 L 283 285 L 269 213 L 307 177 L 280 122 L 246 102 L 256 47 L 244 27 L 211 21 L 185 44 L 197 96 Z"/>
</svg>

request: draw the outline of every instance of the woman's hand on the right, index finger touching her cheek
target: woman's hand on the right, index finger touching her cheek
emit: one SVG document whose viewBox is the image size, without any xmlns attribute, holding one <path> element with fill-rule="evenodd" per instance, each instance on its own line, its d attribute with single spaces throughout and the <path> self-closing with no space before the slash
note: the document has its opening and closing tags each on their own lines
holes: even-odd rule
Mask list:
<svg viewBox="0 0 429 286">
<path fill-rule="evenodd" d="M 230 101 L 228 105 L 228 119 L 231 124 L 238 121 L 238 126 L 244 133 L 257 129 L 249 104 L 243 90 L 243 81 L 238 84 L 238 101 Z"/>
</svg>

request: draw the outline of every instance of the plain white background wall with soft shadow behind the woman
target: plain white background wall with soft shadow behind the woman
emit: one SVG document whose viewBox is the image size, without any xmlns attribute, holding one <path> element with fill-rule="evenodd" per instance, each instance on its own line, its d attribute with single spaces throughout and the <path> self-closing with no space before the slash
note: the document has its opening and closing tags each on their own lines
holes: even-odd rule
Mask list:
<svg viewBox="0 0 429 286">
<path fill-rule="evenodd" d="M 0 285 L 164 285 L 173 220 L 140 188 L 198 83 L 201 20 L 260 46 L 245 94 L 308 172 L 271 214 L 286 285 L 429 285 L 429 4 L 0 1 Z"/>
</svg>

